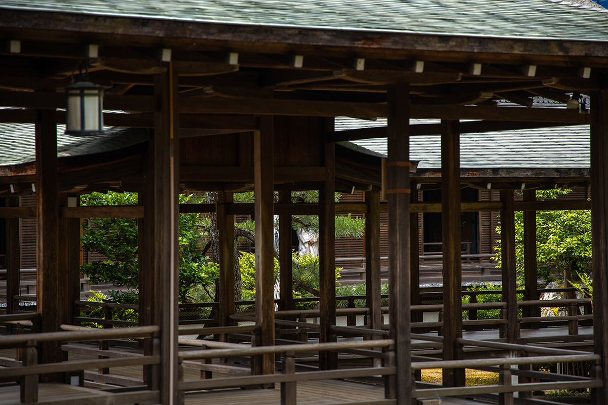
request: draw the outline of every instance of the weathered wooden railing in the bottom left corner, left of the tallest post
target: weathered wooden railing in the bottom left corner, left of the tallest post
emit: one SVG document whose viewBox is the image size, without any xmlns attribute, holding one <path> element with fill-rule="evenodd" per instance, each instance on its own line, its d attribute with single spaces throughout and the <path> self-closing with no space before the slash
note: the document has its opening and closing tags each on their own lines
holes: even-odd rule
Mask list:
<svg viewBox="0 0 608 405">
<path fill-rule="evenodd" d="M 62 325 L 74 328 L 72 325 Z M 85 369 L 103 369 L 105 367 L 121 366 L 154 366 L 159 367 L 161 358 L 159 353 L 153 352 L 150 356 L 123 356 L 122 358 L 86 359 L 75 361 L 54 362 L 38 364 L 38 345 L 41 342 L 81 342 L 104 341 L 120 338 L 151 338 L 159 340 L 160 328 L 157 326 L 97 329 L 78 328 L 69 332 L 28 333 L 26 335 L 3 336 L 0 339 L 0 349 L 22 349 L 21 366 L 0 368 L 0 379 L 3 381 L 16 381 L 21 384 L 21 402 L 38 402 L 38 381 L 40 375 L 64 372 L 82 372 Z M 152 347 L 159 347 L 155 342 Z M 157 370 L 159 373 L 160 370 Z M 147 389 L 142 392 L 140 389 Z M 86 403 L 87 397 L 79 398 Z M 135 392 L 120 392 L 112 395 L 113 404 L 128 404 L 135 402 L 159 402 L 158 387 L 138 387 Z"/>
</svg>

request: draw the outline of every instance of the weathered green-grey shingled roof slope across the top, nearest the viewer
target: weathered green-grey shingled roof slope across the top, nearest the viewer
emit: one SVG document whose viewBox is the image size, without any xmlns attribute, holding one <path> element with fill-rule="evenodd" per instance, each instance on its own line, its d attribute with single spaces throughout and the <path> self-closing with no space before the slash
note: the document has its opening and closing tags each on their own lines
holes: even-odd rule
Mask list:
<svg viewBox="0 0 608 405">
<path fill-rule="evenodd" d="M 331 30 L 608 40 L 608 10 L 564 0 L 0 0 L 2 8 Z"/>
</svg>

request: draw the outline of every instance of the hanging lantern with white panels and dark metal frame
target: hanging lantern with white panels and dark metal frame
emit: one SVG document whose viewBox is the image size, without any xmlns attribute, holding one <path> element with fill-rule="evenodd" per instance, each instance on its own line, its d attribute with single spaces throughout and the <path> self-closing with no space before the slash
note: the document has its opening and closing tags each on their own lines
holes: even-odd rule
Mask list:
<svg viewBox="0 0 608 405">
<path fill-rule="evenodd" d="M 103 89 L 87 80 L 66 87 L 66 134 L 103 134 Z"/>
</svg>

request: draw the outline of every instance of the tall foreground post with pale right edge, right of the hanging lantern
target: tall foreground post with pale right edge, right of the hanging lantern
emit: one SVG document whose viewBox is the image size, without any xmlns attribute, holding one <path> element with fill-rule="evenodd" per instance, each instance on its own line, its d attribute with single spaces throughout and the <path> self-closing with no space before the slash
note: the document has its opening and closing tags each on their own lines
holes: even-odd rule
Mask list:
<svg viewBox="0 0 608 405">
<path fill-rule="evenodd" d="M 179 124 L 178 77 L 173 64 L 164 63 L 165 72 L 154 77 L 154 97 L 159 109 L 154 113 L 151 140 L 153 168 L 150 198 L 153 200 L 153 322 L 161 327 L 161 402 L 178 403 L 178 282 L 179 282 Z"/>
</svg>

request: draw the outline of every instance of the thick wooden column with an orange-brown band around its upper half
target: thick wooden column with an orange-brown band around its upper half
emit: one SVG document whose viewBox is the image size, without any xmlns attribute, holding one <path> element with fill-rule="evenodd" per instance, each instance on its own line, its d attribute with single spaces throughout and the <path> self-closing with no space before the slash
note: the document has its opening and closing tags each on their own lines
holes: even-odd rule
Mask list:
<svg viewBox="0 0 608 405">
<path fill-rule="evenodd" d="M 395 340 L 396 403 L 412 403 L 409 84 L 388 86 L 389 330 Z"/>
</svg>

